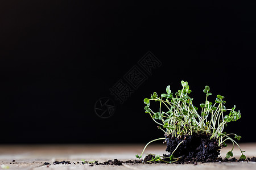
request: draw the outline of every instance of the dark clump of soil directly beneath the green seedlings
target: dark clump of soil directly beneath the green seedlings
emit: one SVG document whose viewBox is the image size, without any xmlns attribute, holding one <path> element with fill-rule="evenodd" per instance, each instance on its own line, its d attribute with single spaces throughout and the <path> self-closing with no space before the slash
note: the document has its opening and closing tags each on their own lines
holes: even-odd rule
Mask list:
<svg viewBox="0 0 256 170">
<path fill-rule="evenodd" d="M 216 139 L 210 139 L 210 135 L 195 134 L 185 135 L 180 138 L 166 137 L 167 148 L 166 151 L 170 152 L 170 155 L 164 155 L 170 157 L 174 152 L 174 158 L 179 158 L 178 162 L 193 163 L 193 162 L 218 162 L 218 155 L 220 155 L 220 149 L 222 146 L 218 146 Z M 170 161 L 170 160 L 166 160 Z"/>
</svg>

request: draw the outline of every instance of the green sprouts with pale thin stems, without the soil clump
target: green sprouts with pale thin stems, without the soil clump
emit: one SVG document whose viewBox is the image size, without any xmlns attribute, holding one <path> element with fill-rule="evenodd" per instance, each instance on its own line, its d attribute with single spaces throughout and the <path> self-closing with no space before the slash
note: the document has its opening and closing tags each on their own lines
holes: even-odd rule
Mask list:
<svg viewBox="0 0 256 170">
<path fill-rule="evenodd" d="M 226 134 L 223 132 L 224 127 L 231 121 L 237 121 L 241 118 L 240 111 L 235 111 L 236 105 L 232 109 L 228 109 L 225 107 L 226 101 L 223 100 L 224 96 L 217 95 L 214 103 L 208 100 L 208 97 L 212 95 L 209 86 L 205 86 L 203 92 L 205 93 L 205 102 L 200 104 L 200 110 L 195 107 L 192 103 L 193 99 L 188 95 L 191 93 L 189 90 L 188 82 L 181 81 L 182 89 L 172 93 L 170 86 L 166 88 L 166 94 L 161 94 L 158 96 L 156 92 L 151 95 L 151 98 L 144 99 L 144 103 L 146 107 L 144 107 L 145 112 L 150 114 L 152 120 L 158 124 L 158 129 L 164 132 L 165 137 L 175 137 L 179 138 L 181 135 L 192 135 L 192 134 L 207 134 L 210 135 L 210 139 L 216 139 L 218 141 L 218 146 L 226 147 L 226 141 L 231 141 L 233 143 L 233 148 L 226 154 L 226 158 L 233 156 L 234 144 L 236 144 L 239 148 L 240 146 L 234 139 L 240 140 L 241 136 L 230 133 Z M 150 108 L 151 101 L 159 102 L 159 111 L 152 111 Z M 228 114 L 225 114 L 229 111 Z M 234 135 L 234 139 L 230 136 Z M 162 140 L 166 138 L 158 138 L 154 139 L 147 143 L 144 147 L 142 154 L 148 144 L 154 141 Z M 179 145 L 184 142 L 181 141 Z M 179 147 L 177 145 L 177 147 Z M 177 149 L 176 147 L 176 149 Z M 170 156 L 170 163 L 174 161 L 174 152 L 172 152 Z M 245 159 L 246 156 L 243 155 L 241 148 L 241 157 L 240 159 Z M 142 157 L 136 155 L 137 158 Z M 154 160 L 160 160 L 159 155 L 157 155 Z M 162 158 L 164 158 L 162 156 Z"/>
</svg>

